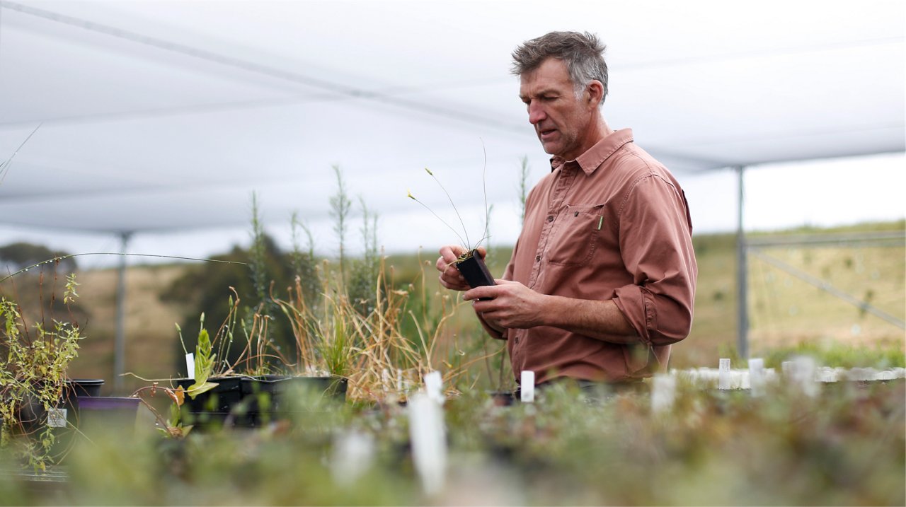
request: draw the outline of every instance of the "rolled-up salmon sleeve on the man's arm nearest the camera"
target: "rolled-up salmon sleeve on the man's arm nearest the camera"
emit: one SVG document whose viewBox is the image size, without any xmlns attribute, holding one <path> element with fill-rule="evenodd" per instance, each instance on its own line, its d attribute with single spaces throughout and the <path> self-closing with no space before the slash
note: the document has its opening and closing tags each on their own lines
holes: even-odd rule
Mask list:
<svg viewBox="0 0 906 507">
<path fill-rule="evenodd" d="M 633 282 L 613 301 L 648 345 L 689 336 L 698 276 L 691 234 L 686 197 L 662 177 L 640 177 L 624 197 L 620 245 Z"/>
</svg>

